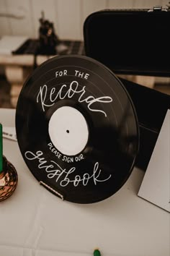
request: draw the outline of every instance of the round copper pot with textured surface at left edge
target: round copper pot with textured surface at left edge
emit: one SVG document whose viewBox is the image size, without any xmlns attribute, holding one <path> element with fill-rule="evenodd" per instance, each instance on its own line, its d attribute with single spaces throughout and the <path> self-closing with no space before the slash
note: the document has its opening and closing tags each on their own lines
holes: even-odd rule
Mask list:
<svg viewBox="0 0 170 256">
<path fill-rule="evenodd" d="M 3 156 L 3 171 L 0 173 L 0 202 L 9 198 L 17 187 L 17 171 Z"/>
</svg>

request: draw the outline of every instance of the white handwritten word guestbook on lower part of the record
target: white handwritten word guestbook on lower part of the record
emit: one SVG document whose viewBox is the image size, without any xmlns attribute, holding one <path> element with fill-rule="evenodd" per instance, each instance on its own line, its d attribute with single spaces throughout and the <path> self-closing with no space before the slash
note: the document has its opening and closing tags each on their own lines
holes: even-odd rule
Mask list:
<svg viewBox="0 0 170 256">
<path fill-rule="evenodd" d="M 24 156 L 29 161 L 37 160 L 37 168 L 44 169 L 48 178 L 55 178 L 55 182 L 59 182 L 61 187 L 66 187 L 68 184 L 73 184 L 74 187 L 77 187 L 80 183 L 86 186 L 90 179 L 93 180 L 95 185 L 97 185 L 98 182 L 106 182 L 112 176 L 109 174 L 106 179 L 99 179 L 102 170 L 99 169 L 99 163 L 97 162 L 94 164 L 91 176 L 88 173 L 84 173 L 83 176 L 75 175 L 74 179 L 70 179 L 69 175 L 71 174 L 71 176 L 73 176 L 73 172 L 76 171 L 76 167 L 71 167 L 69 170 L 66 170 L 66 168 L 61 168 L 61 166 L 59 166 L 59 164 L 55 161 L 51 160 L 50 163 L 48 163 L 48 161 L 46 161 L 43 157 L 42 151 L 40 150 L 38 150 L 36 153 L 32 153 L 32 151 L 26 151 Z"/>
</svg>

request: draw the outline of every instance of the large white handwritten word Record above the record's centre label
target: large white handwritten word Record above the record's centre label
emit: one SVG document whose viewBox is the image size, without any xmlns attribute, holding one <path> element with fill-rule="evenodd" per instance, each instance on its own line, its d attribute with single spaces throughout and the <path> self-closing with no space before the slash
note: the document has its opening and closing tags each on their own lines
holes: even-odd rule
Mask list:
<svg viewBox="0 0 170 256">
<path fill-rule="evenodd" d="M 77 82 L 77 81 L 71 82 L 70 85 L 62 85 L 60 90 L 58 90 L 58 92 L 56 92 L 55 87 L 50 88 L 50 95 L 49 95 L 50 104 L 47 104 L 47 103 L 45 103 L 45 101 L 46 101 L 46 98 L 48 97 L 48 86 L 43 85 L 43 86 L 40 86 L 40 90 L 37 94 L 37 103 L 39 103 L 39 101 L 40 101 L 42 110 L 45 111 L 45 107 L 53 106 L 55 104 L 55 101 L 57 101 L 58 98 L 60 100 L 63 100 L 66 97 L 72 98 L 73 95 L 78 94 L 79 95 L 79 100 L 78 100 L 79 103 L 86 102 L 87 107 L 89 108 L 90 111 L 101 112 L 102 114 L 104 114 L 105 117 L 107 117 L 107 114 L 104 111 L 102 111 L 101 109 L 94 108 L 94 106 L 92 106 L 92 105 L 97 102 L 98 103 L 110 103 L 110 102 L 112 102 L 112 98 L 109 96 L 94 98 L 94 96 L 92 96 L 92 95 L 89 95 L 86 97 L 84 95 L 86 93 L 85 88 L 86 88 L 86 86 L 84 86 L 83 88 L 81 88 L 79 90 L 79 82 Z M 64 90 L 66 90 L 66 92 L 64 92 Z"/>
</svg>

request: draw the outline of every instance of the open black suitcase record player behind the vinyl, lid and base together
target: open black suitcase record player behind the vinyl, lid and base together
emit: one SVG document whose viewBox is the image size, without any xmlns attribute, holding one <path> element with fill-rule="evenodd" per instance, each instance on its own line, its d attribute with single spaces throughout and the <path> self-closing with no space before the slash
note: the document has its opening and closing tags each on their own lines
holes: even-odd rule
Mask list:
<svg viewBox="0 0 170 256">
<path fill-rule="evenodd" d="M 106 9 L 84 22 L 87 56 L 102 62 L 115 74 L 170 77 L 170 12 L 153 9 Z M 122 80 L 133 100 L 140 127 L 136 166 L 146 170 L 161 130 L 170 96 Z"/>
</svg>

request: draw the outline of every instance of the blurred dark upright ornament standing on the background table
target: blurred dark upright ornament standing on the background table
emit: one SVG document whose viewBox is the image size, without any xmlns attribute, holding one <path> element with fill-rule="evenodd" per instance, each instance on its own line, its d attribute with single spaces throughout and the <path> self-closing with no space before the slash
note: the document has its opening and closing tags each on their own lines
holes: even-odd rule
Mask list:
<svg viewBox="0 0 170 256">
<path fill-rule="evenodd" d="M 39 40 L 39 54 L 57 54 L 56 46 L 60 43 L 60 40 L 58 39 L 58 36 L 55 34 L 53 22 L 45 20 L 44 12 L 42 12 L 42 17 L 40 18 Z"/>
</svg>

